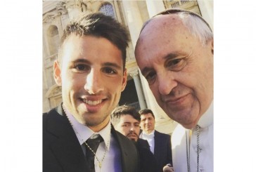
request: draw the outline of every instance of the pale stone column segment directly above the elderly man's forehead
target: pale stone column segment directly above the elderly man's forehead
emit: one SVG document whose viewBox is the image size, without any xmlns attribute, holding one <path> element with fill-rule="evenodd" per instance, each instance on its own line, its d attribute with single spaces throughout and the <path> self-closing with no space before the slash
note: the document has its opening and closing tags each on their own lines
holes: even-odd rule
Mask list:
<svg viewBox="0 0 256 172">
<path fill-rule="evenodd" d="M 151 18 L 153 15 L 160 13 L 161 11 L 165 10 L 165 5 L 163 1 L 159 0 L 146 0 L 146 4 L 148 7 L 148 15 Z"/>
</svg>

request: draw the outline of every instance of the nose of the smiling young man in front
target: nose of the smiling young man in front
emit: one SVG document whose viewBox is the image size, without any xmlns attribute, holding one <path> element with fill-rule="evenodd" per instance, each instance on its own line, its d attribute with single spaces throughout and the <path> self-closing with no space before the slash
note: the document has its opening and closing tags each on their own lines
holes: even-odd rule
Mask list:
<svg viewBox="0 0 256 172">
<path fill-rule="evenodd" d="M 89 74 L 87 74 L 84 89 L 87 90 L 89 94 L 96 94 L 103 91 L 103 81 L 100 71 L 91 69 Z"/>
</svg>

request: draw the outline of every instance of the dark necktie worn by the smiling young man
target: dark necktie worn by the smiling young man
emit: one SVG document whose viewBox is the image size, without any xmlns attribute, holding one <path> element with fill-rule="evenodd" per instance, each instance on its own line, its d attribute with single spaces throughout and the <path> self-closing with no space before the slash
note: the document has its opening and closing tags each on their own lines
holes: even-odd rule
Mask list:
<svg viewBox="0 0 256 172">
<path fill-rule="evenodd" d="M 95 172 L 95 168 L 94 168 L 94 153 L 96 153 L 97 149 L 98 149 L 98 145 L 103 141 L 103 138 L 101 138 L 101 135 L 94 135 L 94 138 L 89 138 L 87 139 L 85 144 L 86 147 L 86 158 L 87 158 L 87 162 L 89 164 L 89 168 L 90 168 L 90 172 Z M 90 150 L 93 150 L 94 152 L 92 152 Z"/>
</svg>

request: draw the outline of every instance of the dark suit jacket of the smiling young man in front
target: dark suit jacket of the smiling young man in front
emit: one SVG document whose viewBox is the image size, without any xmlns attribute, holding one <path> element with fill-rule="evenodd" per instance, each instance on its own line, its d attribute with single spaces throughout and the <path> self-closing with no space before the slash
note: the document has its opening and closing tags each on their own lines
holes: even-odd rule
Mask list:
<svg viewBox="0 0 256 172">
<path fill-rule="evenodd" d="M 58 106 L 43 115 L 43 172 L 88 171 L 82 147 L 64 114 Z M 122 172 L 139 171 L 138 152 L 132 141 L 113 127 L 111 133 L 120 146 Z"/>
</svg>

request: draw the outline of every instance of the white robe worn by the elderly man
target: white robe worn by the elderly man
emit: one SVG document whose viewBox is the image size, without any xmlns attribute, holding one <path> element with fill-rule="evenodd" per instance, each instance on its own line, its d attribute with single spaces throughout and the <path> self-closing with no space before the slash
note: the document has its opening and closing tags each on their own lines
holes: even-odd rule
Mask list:
<svg viewBox="0 0 256 172">
<path fill-rule="evenodd" d="M 200 126 L 199 147 L 199 171 L 213 172 L 213 102 L 208 110 L 198 121 Z M 191 138 L 189 138 L 189 130 L 180 124 L 172 133 L 172 162 L 175 172 L 186 172 L 186 133 L 188 139 L 191 139 L 191 144 L 188 147 L 188 154 L 190 154 L 190 168 L 191 172 L 197 170 L 197 134 L 196 128 L 192 130 Z M 190 151 L 189 151 L 190 150 Z"/>
</svg>

